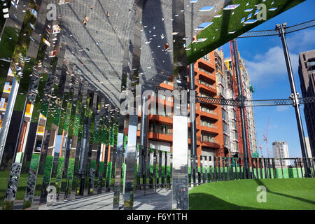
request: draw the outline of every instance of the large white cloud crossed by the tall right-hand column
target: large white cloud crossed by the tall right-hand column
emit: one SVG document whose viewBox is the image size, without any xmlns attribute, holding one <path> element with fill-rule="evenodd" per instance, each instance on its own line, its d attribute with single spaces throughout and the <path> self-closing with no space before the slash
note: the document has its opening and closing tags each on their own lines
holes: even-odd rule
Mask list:
<svg viewBox="0 0 315 224">
<path fill-rule="evenodd" d="M 297 71 L 298 55 L 290 53 L 290 59 L 294 73 Z M 283 79 L 288 76 L 283 49 L 279 46 L 255 55 L 252 60 L 245 59 L 245 65 L 254 85 L 268 85 L 274 79 Z"/>
</svg>

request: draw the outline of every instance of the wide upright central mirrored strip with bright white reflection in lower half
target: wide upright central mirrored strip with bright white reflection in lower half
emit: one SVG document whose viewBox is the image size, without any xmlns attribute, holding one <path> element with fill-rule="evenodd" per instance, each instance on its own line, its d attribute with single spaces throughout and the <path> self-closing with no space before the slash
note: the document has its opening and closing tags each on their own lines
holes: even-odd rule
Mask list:
<svg viewBox="0 0 315 224">
<path fill-rule="evenodd" d="M 172 3 L 173 48 L 174 48 L 174 90 L 187 90 L 185 14 L 183 0 Z M 181 102 L 187 104 L 187 102 Z M 173 209 L 188 209 L 188 117 L 178 113 L 174 104 L 173 116 Z"/>
</svg>

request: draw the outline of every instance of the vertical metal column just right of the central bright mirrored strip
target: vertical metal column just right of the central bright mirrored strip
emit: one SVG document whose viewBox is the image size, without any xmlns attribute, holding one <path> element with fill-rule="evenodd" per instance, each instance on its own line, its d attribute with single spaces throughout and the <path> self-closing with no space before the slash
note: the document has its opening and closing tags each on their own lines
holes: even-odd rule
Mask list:
<svg viewBox="0 0 315 224">
<path fill-rule="evenodd" d="M 189 90 L 195 93 L 195 71 L 194 63 L 189 65 Z M 190 92 L 191 93 L 191 92 Z M 191 135 L 190 135 L 190 154 L 197 155 L 197 135 L 196 135 L 196 103 L 195 101 L 190 102 L 190 122 L 191 122 Z M 192 174 L 195 174 L 195 160 L 191 165 Z M 196 178 L 193 176 L 193 183 L 196 183 Z"/>
</svg>

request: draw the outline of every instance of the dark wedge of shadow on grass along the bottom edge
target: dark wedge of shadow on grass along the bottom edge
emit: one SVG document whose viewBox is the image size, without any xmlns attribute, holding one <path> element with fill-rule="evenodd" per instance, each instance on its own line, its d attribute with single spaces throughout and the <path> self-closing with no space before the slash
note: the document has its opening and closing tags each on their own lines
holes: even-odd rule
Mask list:
<svg viewBox="0 0 315 224">
<path fill-rule="evenodd" d="M 189 195 L 189 210 L 265 210 L 254 207 L 243 207 L 225 202 L 214 195 L 193 193 Z"/>
</svg>

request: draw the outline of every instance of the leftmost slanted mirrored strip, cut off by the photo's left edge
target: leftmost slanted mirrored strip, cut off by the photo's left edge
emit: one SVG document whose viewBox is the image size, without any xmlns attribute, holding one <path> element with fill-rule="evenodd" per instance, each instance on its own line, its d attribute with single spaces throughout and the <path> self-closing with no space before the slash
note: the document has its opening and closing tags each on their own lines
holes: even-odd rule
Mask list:
<svg viewBox="0 0 315 224">
<path fill-rule="evenodd" d="M 27 2 L 28 3 L 28 2 Z M 40 8 L 41 2 L 39 2 L 39 5 L 33 4 L 35 7 Z M 29 4 L 31 6 L 31 3 Z M 23 15 L 20 17 L 20 19 L 24 18 L 23 12 L 21 12 Z M 36 23 L 37 18 L 34 15 L 28 15 L 29 12 L 27 12 L 27 16 L 25 17 L 25 20 L 21 22 L 22 23 L 22 29 L 19 32 L 13 30 L 13 33 L 11 34 L 6 34 L 5 37 L 3 37 L 3 40 L 0 42 L 0 48 L 2 49 L 0 52 L 0 64 L 1 64 L 1 74 L 0 74 L 0 80 L 5 84 L 3 86 L 3 92 L 1 90 L 1 108 L 4 108 L 5 111 L 0 111 L 0 116 L 1 116 L 1 127 L 0 127 L 0 164 L 1 164 L 1 170 L 4 169 L 10 169 L 10 162 L 2 162 L 1 160 L 3 158 L 6 158 L 5 160 L 8 160 L 8 157 L 14 157 L 15 155 L 15 144 L 16 144 L 16 139 L 11 138 L 10 134 L 12 132 L 15 134 L 18 132 L 20 124 L 19 121 L 22 120 L 22 111 L 23 111 L 23 104 L 25 102 L 26 98 L 26 93 L 27 89 L 25 87 L 28 87 L 30 77 L 28 76 L 29 73 L 25 74 L 23 76 L 23 71 L 26 71 L 27 68 L 31 67 L 29 64 L 26 65 L 28 60 L 27 58 L 27 50 L 29 48 L 29 43 L 31 42 L 31 39 L 29 36 L 25 36 L 25 34 L 32 34 L 33 29 L 31 29 L 30 24 L 31 23 Z M 41 15 L 43 14 L 43 10 L 41 10 Z M 15 22 L 19 23 L 18 20 Z M 16 25 L 16 24 L 15 24 Z M 8 28 L 8 27 L 7 27 Z M 14 29 L 14 28 L 12 28 Z M 15 43 L 10 43 L 12 42 L 12 37 L 17 38 Z M 9 40 L 7 40 L 9 38 Z M 13 41 L 14 42 L 14 41 Z M 1 45 L 1 43 L 3 45 Z M 11 45 L 13 44 L 13 45 Z M 10 47 L 12 48 L 12 53 L 8 53 L 7 50 L 8 45 L 13 46 Z M 29 50 L 36 50 L 36 49 L 29 49 Z M 37 49 L 38 50 L 38 49 Z M 9 54 L 9 55 L 3 55 L 3 54 Z M 4 61 L 3 61 L 3 56 Z M 9 62 L 9 63 L 5 63 Z M 34 59 L 33 59 L 34 62 Z M 2 64 L 4 63 L 4 64 Z M 3 73 L 4 72 L 4 73 Z M 2 74 L 3 73 L 3 74 Z M 23 91 L 23 94 L 21 95 L 20 93 L 22 92 L 21 89 L 25 89 Z M 18 99 L 17 99 L 18 98 Z M 17 102 L 17 104 L 15 104 Z M 4 113 L 4 114 L 3 114 Z M 11 119 L 11 118 L 14 119 Z M 11 122 L 12 120 L 12 122 Z M 9 134 L 9 135 L 8 135 Z M 7 167 L 3 167 L 8 165 Z"/>
</svg>

